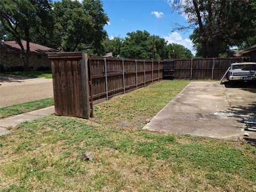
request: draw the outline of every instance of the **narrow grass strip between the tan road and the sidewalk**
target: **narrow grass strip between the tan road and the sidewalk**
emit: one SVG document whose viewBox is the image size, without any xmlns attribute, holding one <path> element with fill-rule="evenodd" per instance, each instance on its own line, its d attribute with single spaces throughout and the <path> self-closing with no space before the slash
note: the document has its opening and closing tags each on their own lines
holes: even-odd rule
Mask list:
<svg viewBox="0 0 256 192">
<path fill-rule="evenodd" d="M 11 115 L 17 115 L 22 113 L 27 113 L 29 111 L 42 109 L 45 107 L 50 107 L 54 105 L 53 98 L 41 99 L 36 101 L 30 101 L 26 103 L 20 103 L 17 105 L 1 107 L 0 108 L 0 118 L 8 117 Z"/>
</svg>

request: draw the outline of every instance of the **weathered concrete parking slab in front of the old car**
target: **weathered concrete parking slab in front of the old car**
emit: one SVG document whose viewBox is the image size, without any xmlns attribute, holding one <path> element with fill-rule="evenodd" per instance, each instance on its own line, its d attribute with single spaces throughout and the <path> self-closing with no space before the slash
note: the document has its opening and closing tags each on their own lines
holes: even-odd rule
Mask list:
<svg viewBox="0 0 256 192">
<path fill-rule="evenodd" d="M 255 88 L 191 82 L 143 129 L 212 138 L 240 137 L 242 118 L 256 111 Z M 255 132 L 250 132 L 255 135 Z"/>
</svg>

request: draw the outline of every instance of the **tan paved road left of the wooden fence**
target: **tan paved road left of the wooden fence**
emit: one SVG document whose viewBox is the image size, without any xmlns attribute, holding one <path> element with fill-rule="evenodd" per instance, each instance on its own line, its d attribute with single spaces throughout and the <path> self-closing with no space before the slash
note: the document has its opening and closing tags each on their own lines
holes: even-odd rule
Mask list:
<svg viewBox="0 0 256 192">
<path fill-rule="evenodd" d="M 52 79 L 1 74 L 0 83 L 0 107 L 53 97 Z"/>
</svg>

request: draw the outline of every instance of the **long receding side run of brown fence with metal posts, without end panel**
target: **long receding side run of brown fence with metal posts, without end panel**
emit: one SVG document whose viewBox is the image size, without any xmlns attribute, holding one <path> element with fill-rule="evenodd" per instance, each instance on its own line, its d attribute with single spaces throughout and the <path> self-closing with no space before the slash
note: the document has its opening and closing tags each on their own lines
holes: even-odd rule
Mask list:
<svg viewBox="0 0 256 192">
<path fill-rule="evenodd" d="M 163 61 L 91 57 L 93 101 L 109 99 L 163 79 Z"/>
</svg>

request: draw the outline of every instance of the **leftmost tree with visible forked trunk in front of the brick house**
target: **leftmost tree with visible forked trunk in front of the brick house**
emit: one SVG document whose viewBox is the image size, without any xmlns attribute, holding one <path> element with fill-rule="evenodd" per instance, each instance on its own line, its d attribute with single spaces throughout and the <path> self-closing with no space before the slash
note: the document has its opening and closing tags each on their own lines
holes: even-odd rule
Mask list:
<svg viewBox="0 0 256 192">
<path fill-rule="evenodd" d="M 31 41 L 31 28 L 42 23 L 41 16 L 49 13 L 50 4 L 47 0 L 2 0 L 0 1 L 1 30 L 15 38 L 21 47 L 24 70 L 29 70 L 29 42 Z M 26 40 L 26 51 L 22 45 Z"/>
</svg>

